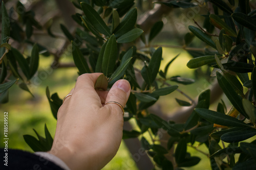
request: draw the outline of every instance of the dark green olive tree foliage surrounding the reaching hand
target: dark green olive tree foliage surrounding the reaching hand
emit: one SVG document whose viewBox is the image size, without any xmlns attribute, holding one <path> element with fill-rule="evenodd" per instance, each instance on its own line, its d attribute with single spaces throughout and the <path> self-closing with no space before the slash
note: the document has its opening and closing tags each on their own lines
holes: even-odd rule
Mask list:
<svg viewBox="0 0 256 170">
<path fill-rule="evenodd" d="M 137 8 L 134 8 L 134 1 L 73 1 L 78 13 L 72 18 L 79 26 L 74 34 L 64 25 L 60 27 L 72 44 L 72 55 L 78 74 L 89 72 L 104 74 L 99 77 L 95 88 L 105 90 L 119 79 L 130 81 L 133 90 L 125 107 L 128 116 L 124 117 L 124 120 L 136 119 L 140 130 L 123 131 L 123 138 L 141 136 L 144 150 L 153 158 L 157 166 L 163 169 L 181 169 L 196 165 L 200 158 L 191 156 L 187 152 L 187 147 L 196 148 L 194 144 L 198 141 L 200 145 L 205 144 L 209 149 L 208 156 L 212 169 L 253 169 L 256 167 L 254 152 L 256 140 L 250 143 L 241 141 L 256 134 L 255 10 L 251 11 L 249 0 L 238 3 L 234 0 L 228 2 L 209 0 L 201 3 L 157 2 L 170 8 L 189 9 L 203 6 L 214 10 L 214 14 L 203 15 L 204 22 L 207 23 L 206 30 L 196 21 L 196 26 L 188 26 L 193 35 L 191 33 L 185 35 L 185 45 L 190 45 L 194 37 L 197 37 L 205 43 L 205 51 L 199 55 L 188 51 L 194 58 L 187 63 L 187 67 L 198 68 L 203 65 L 212 67 L 211 75 L 217 77 L 220 87 L 233 107 L 227 111 L 221 101 L 216 111 L 209 110 L 210 90 L 205 90 L 199 95 L 195 110 L 184 124 L 175 124 L 147 111 L 147 108 L 154 105 L 160 96 L 177 90 L 178 86 L 171 86 L 170 81 L 183 85 L 194 83 L 193 79 L 180 76 L 168 77 L 168 67 L 178 56 L 166 65 L 164 71 L 159 70 L 162 47 L 155 49 L 150 43 L 162 30 L 162 21 L 155 23 L 148 39 L 145 39 L 143 30 L 136 25 Z M 2 2 L 0 51 L 2 103 L 8 101 L 8 88 L 17 83 L 17 79 L 20 79 L 18 85 L 29 91 L 27 85 L 38 69 L 39 54 L 40 57 L 49 56 L 46 47 L 30 39 L 33 30 L 47 29 L 49 36 L 55 37 L 50 30 L 51 27 L 40 26 L 34 17 L 34 12 L 26 11 L 22 3 L 18 2 L 10 11 L 20 8 L 24 9 L 24 12 L 18 13 L 18 20 L 14 20 L 9 17 Z M 22 28 L 26 28 L 25 33 Z M 214 29 L 211 28 L 215 28 L 215 33 L 218 34 L 214 34 Z M 24 34 L 26 37 L 23 36 Z M 33 44 L 31 56 L 24 57 L 22 52 L 8 44 L 9 39 L 18 43 Z M 144 43 L 143 48 L 136 45 L 139 39 Z M 144 65 L 138 68 L 137 61 L 144 62 Z M 143 83 L 136 80 L 136 74 L 142 76 Z M 52 113 L 57 118 L 57 110 L 62 100 L 57 93 L 50 95 L 49 88 L 46 94 Z M 181 106 L 193 104 L 192 101 L 179 99 L 176 101 Z M 157 142 L 158 129 L 165 130 L 170 136 L 167 148 Z M 53 140 L 46 126 L 45 132 L 46 138 L 35 131 L 39 140 L 31 135 L 24 135 L 24 139 L 34 151 L 47 151 Z M 143 137 L 145 132 L 154 137 L 152 141 L 147 141 Z M 219 145 L 221 140 L 230 143 L 227 148 L 225 145 Z M 166 157 L 166 154 L 172 154 L 171 149 L 174 145 L 176 147 L 173 155 L 176 164 Z M 236 154 L 240 154 L 238 160 L 234 159 Z M 224 160 L 225 157 L 228 159 Z"/>
</svg>

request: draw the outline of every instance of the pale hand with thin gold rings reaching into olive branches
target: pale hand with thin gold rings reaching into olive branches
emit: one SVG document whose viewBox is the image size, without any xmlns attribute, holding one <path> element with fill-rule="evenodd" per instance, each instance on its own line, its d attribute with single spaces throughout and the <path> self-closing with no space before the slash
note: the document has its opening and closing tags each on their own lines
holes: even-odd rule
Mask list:
<svg viewBox="0 0 256 170">
<path fill-rule="evenodd" d="M 66 98 L 57 114 L 57 128 L 49 153 L 59 157 L 73 169 L 100 169 L 116 154 L 123 129 L 122 110 L 131 86 L 117 81 L 110 91 L 95 90 L 100 73 L 83 74 L 77 78 L 71 96 Z"/>
</svg>

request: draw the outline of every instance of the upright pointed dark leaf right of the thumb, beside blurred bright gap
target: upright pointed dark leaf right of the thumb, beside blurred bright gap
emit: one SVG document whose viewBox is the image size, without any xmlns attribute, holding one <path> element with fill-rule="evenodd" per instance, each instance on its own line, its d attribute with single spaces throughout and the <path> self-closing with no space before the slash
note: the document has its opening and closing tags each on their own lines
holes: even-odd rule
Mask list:
<svg viewBox="0 0 256 170">
<path fill-rule="evenodd" d="M 157 50 L 153 53 L 150 63 L 148 64 L 148 69 L 151 71 L 151 83 L 155 81 L 160 64 L 162 60 L 162 47 L 157 48 Z"/>
</svg>

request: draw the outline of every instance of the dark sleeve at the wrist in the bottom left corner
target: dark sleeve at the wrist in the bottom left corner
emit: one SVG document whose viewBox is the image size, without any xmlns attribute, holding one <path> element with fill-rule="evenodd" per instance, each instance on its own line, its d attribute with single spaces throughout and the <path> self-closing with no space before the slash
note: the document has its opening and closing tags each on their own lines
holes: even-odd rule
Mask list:
<svg viewBox="0 0 256 170">
<path fill-rule="evenodd" d="M 20 151 L 8 149 L 6 152 L 1 150 L 1 165 L 0 169 L 19 169 L 19 170 L 64 170 L 55 163 L 48 159 L 42 158 L 38 155 Z M 7 154 L 6 154 L 7 153 Z M 4 160 L 4 161 L 3 161 Z M 8 166 L 6 166 L 8 165 Z"/>
</svg>

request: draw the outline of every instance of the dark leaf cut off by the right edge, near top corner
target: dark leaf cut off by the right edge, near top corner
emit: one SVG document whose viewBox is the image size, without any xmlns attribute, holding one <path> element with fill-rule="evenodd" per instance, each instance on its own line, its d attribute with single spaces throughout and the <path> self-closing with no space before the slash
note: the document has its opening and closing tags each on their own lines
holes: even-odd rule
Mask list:
<svg viewBox="0 0 256 170">
<path fill-rule="evenodd" d="M 256 31 L 256 23 L 250 16 L 241 12 L 234 12 L 232 14 L 234 20 L 240 23 L 242 26 L 247 27 L 250 30 Z"/>
</svg>

